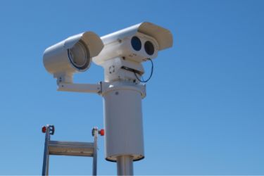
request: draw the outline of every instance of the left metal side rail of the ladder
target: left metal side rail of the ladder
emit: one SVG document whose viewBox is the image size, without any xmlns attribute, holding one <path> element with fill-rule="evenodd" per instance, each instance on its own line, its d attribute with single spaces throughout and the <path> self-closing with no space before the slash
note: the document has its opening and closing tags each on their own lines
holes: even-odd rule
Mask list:
<svg viewBox="0 0 264 176">
<path fill-rule="evenodd" d="M 44 145 L 44 157 L 42 166 L 42 175 L 49 175 L 49 125 L 46 125 L 45 145 Z"/>
</svg>

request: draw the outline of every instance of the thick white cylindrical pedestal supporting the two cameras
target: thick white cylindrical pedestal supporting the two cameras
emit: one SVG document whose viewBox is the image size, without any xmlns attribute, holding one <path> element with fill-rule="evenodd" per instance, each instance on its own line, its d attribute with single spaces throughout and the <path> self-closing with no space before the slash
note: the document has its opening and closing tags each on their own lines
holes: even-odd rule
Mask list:
<svg viewBox="0 0 264 176">
<path fill-rule="evenodd" d="M 142 94 L 137 86 L 116 86 L 103 94 L 106 160 L 144 158 Z"/>
</svg>

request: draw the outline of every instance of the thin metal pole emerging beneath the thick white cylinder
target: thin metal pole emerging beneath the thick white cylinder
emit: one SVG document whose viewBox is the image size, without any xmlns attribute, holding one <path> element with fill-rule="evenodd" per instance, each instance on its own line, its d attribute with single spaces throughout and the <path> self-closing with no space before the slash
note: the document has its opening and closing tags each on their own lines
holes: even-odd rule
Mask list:
<svg viewBox="0 0 264 176">
<path fill-rule="evenodd" d="M 132 156 L 118 156 L 118 175 L 133 175 Z"/>
</svg>

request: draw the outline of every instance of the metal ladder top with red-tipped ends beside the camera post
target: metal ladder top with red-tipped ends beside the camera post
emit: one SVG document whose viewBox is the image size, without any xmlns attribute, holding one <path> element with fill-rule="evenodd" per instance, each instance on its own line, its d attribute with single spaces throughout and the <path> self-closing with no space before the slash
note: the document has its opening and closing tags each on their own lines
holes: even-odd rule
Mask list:
<svg viewBox="0 0 264 176">
<path fill-rule="evenodd" d="M 97 137 L 98 134 L 104 135 L 104 130 L 98 130 L 94 127 L 92 135 L 94 142 L 60 142 L 51 141 L 51 135 L 54 135 L 54 125 L 46 125 L 42 127 L 45 133 L 44 158 L 42 166 L 42 175 L 49 175 L 49 156 L 88 156 L 93 157 L 92 175 L 97 174 Z"/>
</svg>

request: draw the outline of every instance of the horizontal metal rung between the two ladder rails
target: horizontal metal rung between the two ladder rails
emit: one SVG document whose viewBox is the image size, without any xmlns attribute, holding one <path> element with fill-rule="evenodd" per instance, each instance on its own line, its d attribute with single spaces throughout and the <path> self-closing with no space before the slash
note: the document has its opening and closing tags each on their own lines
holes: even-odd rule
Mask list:
<svg viewBox="0 0 264 176">
<path fill-rule="evenodd" d="M 49 141 L 49 154 L 65 156 L 94 156 L 94 143 Z"/>
</svg>

